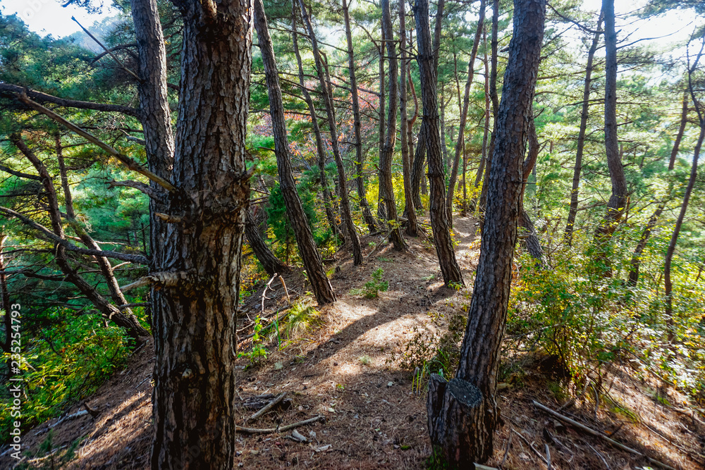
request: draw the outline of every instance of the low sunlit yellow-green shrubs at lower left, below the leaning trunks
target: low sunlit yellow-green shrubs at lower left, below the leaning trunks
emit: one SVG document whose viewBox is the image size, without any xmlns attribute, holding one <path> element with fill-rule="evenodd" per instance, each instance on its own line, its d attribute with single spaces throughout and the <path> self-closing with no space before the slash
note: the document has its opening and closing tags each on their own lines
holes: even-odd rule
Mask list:
<svg viewBox="0 0 705 470">
<path fill-rule="evenodd" d="M 37 319 L 39 320 L 39 319 Z M 128 358 L 129 342 L 121 328 L 105 328 L 98 314 L 51 309 L 41 321 L 47 326 L 23 331 L 22 377 L 27 394 L 22 401 L 23 426 L 57 416 L 97 390 Z M 3 361 L 8 359 L 4 355 Z M 0 409 L 0 431 L 8 435 L 10 401 Z"/>
</svg>

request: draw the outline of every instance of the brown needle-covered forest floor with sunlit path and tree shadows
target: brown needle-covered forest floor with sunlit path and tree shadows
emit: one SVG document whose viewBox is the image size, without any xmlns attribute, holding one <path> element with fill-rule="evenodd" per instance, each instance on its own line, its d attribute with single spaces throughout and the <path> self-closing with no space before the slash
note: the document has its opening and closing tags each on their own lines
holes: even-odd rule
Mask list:
<svg viewBox="0 0 705 470">
<path fill-rule="evenodd" d="M 274 428 L 278 423 L 284 426 L 319 415 L 325 421 L 297 428 L 307 442 L 298 442 L 290 432 L 238 434 L 236 468 L 429 468 L 426 396 L 412 391 L 412 371 L 400 366 L 400 358 L 407 345 L 414 344 L 417 333 L 432 334 L 439 328 L 439 322 L 432 321 L 439 318 L 436 314 L 448 319 L 470 304 L 479 256 L 475 222 L 455 218 L 456 255 L 467 283 L 461 290 L 443 287 L 435 250 L 424 235 L 408 239 L 408 252 L 394 252 L 389 245 L 374 247 L 381 242 L 381 235 L 363 237 L 369 257 L 360 268 L 352 265 L 345 252 L 338 252 L 331 278 L 338 302 L 321 309 L 318 326 L 281 350 L 276 340 L 267 343 L 269 357 L 259 366 L 238 371 L 240 426 Z M 355 290 L 360 290 L 378 268 L 384 270 L 388 290 L 376 299 L 365 299 Z M 305 292 L 300 273 L 288 273 L 285 279 L 292 297 Z M 281 283 L 275 280 L 271 287 L 274 291 L 267 292 L 265 315 L 288 305 Z M 246 316 L 254 319 L 262 314 L 262 288 L 249 297 L 244 309 L 243 326 L 248 323 Z M 243 336 L 249 333 L 242 332 Z M 247 341 L 242 342 L 243 350 Z M 522 380 L 512 383 L 506 379 L 512 385 L 499 392 L 505 425 L 494 436 L 495 452 L 486 465 L 496 467 L 503 462 L 503 469 L 545 469 L 541 459 L 546 456 L 548 438 L 551 469 L 655 467 L 644 457 L 618 450 L 574 426 L 564 426 L 534 407 L 532 400 L 558 409 L 570 398 L 562 391 L 568 390 L 565 382 L 563 388 L 556 385 L 560 378 L 551 370 L 550 358 L 519 355 L 505 361 L 515 361 L 515 369 L 518 364 Z M 239 364 L 249 363 L 243 358 Z M 58 449 L 51 457 L 30 459 L 33 468 L 48 465 L 50 459 L 58 462 L 66 446 L 79 439 L 75 457 L 63 468 L 149 468 L 153 366 L 154 350 L 147 345 L 134 354 L 126 369 L 87 400 L 98 412 L 95 418 L 83 414 L 58 424 L 59 419 L 53 419 L 27 431 L 23 443 L 36 450 L 52 428 L 53 445 Z M 603 376 L 611 403 L 603 400 L 596 407 L 594 395 L 588 391 L 561 413 L 675 469 L 705 469 L 702 416 L 687 409 L 684 395 L 648 378 L 635 378 L 626 367 L 613 366 Z M 264 395 L 261 400 L 266 402 L 266 397 L 283 392 L 290 399 L 286 409 L 247 423 L 259 407 L 245 406 L 253 397 Z M 67 409 L 65 416 L 81 409 L 76 405 Z M 1 468 L 10 465 L 7 454 L 0 457 Z"/>
</svg>

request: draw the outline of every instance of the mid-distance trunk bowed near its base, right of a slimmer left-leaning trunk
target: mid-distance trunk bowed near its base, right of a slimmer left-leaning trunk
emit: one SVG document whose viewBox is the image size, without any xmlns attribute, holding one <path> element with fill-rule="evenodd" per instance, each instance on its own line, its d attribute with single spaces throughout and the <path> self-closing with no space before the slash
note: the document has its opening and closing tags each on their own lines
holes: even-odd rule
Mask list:
<svg viewBox="0 0 705 470">
<path fill-rule="evenodd" d="M 398 63 L 396 58 L 396 46 L 393 42 L 391 10 L 389 0 L 382 0 L 382 30 L 386 39 L 387 61 L 389 63 L 389 108 L 387 111 L 386 135 L 384 138 L 384 148 L 379 154 L 379 187 L 384 187 L 384 206 L 386 220 L 391 225 L 389 239 L 394 245 L 394 249 L 403 250 L 407 248 L 401 227 L 397 219 L 396 202 L 394 201 L 394 187 L 392 185 L 392 159 L 394 154 L 394 144 L 396 142 L 396 111 L 397 101 L 397 80 Z"/>
</svg>

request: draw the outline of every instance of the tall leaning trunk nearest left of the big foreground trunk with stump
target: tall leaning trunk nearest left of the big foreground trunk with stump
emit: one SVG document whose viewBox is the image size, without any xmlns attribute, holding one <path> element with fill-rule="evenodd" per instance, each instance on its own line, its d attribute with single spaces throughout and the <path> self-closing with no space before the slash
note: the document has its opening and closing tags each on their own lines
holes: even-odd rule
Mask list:
<svg viewBox="0 0 705 470">
<path fill-rule="evenodd" d="M 439 106 L 436 94 L 436 68 L 433 66 L 431 33 L 429 26 L 428 0 L 417 0 L 414 8 L 416 20 L 419 72 L 421 77 L 421 99 L 424 123 L 427 124 L 427 154 L 429 158 L 429 182 L 431 183 L 431 228 L 434 245 L 439 256 L 443 282 L 463 284 L 462 273 L 455 261 L 453 242 L 450 240 L 446 218 L 446 183 L 443 180 L 443 157 L 439 133 Z"/>
</svg>

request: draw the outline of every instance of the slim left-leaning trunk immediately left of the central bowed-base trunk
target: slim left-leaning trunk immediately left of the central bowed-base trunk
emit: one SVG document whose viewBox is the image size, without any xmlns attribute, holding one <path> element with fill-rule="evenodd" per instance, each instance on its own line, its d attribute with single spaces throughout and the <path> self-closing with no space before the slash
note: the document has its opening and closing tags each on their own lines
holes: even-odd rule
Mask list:
<svg viewBox="0 0 705 470">
<path fill-rule="evenodd" d="M 353 128 L 355 130 L 355 183 L 357 185 L 357 197 L 360 198 L 360 209 L 362 218 L 367 223 L 370 233 L 374 232 L 376 223 L 372 211 L 367 202 L 367 189 L 364 185 L 364 155 L 362 154 L 362 119 L 360 118 L 360 97 L 357 94 L 357 77 L 355 73 L 355 54 L 353 51 L 353 32 L 350 28 L 350 11 L 347 0 L 343 0 L 343 16 L 345 17 L 345 39 L 348 43 L 348 72 L 350 73 L 350 90 L 353 99 Z M 403 76 L 403 74 L 402 74 Z"/>
</svg>

